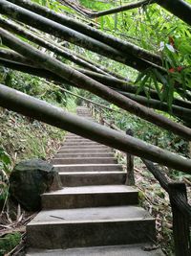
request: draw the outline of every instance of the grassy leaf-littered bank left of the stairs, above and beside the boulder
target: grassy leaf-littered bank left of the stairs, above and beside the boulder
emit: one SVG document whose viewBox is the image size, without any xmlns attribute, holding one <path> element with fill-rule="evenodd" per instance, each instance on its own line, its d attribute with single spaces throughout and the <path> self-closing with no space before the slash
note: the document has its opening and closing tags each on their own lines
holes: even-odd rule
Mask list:
<svg viewBox="0 0 191 256">
<path fill-rule="evenodd" d="M 0 109 L 0 209 L 9 197 L 12 166 L 30 158 L 47 159 L 53 155 L 65 132 Z"/>
</svg>

